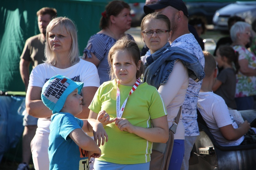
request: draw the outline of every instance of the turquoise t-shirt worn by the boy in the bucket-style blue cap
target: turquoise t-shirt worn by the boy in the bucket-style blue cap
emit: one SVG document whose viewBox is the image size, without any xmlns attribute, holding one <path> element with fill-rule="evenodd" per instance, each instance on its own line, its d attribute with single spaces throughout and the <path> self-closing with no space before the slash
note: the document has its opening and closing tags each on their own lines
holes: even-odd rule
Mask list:
<svg viewBox="0 0 256 170">
<path fill-rule="evenodd" d="M 83 127 L 83 121 L 70 113 L 56 113 L 51 117 L 48 155 L 49 169 L 89 170 L 87 151 L 79 148 L 69 137 L 70 132 Z"/>
</svg>

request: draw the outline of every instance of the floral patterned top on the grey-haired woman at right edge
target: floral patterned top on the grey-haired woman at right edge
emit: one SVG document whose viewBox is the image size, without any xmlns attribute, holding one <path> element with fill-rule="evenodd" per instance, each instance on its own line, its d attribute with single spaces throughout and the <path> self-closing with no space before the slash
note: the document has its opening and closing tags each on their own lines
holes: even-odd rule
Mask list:
<svg viewBox="0 0 256 170">
<path fill-rule="evenodd" d="M 238 60 L 248 60 L 248 67 L 256 69 L 256 56 L 242 46 L 233 46 L 239 52 Z M 237 74 L 236 98 L 256 95 L 256 76 L 245 76 L 240 71 Z"/>
</svg>

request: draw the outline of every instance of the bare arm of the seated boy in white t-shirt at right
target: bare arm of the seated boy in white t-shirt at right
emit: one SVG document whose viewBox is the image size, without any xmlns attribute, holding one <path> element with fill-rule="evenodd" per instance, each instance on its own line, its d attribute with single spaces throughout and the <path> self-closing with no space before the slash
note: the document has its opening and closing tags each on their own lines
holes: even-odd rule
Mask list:
<svg viewBox="0 0 256 170">
<path fill-rule="evenodd" d="M 237 129 L 234 129 L 232 124 L 229 124 L 219 128 L 219 131 L 225 139 L 232 141 L 241 138 L 244 134 L 248 132 L 250 128 L 250 123 L 245 120 L 244 123 L 239 124 L 239 127 Z"/>
</svg>

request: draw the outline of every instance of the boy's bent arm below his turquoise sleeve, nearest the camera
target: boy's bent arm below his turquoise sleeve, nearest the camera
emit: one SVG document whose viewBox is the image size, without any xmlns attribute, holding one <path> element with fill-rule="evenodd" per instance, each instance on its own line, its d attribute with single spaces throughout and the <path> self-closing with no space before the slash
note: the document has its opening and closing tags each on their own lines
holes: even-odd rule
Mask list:
<svg viewBox="0 0 256 170">
<path fill-rule="evenodd" d="M 98 155 L 101 155 L 101 150 L 97 146 L 97 143 L 86 135 L 82 129 L 75 129 L 70 132 L 69 137 L 78 145 L 80 148 L 86 151 L 93 151 Z"/>
</svg>

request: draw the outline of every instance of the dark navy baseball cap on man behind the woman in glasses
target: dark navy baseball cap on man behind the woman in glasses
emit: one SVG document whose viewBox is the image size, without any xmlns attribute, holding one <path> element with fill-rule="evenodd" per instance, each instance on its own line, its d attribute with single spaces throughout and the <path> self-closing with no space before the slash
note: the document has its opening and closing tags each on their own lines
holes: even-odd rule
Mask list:
<svg viewBox="0 0 256 170">
<path fill-rule="evenodd" d="M 182 11 L 183 14 L 188 17 L 187 6 L 182 0 L 158 0 L 156 3 L 144 5 L 143 10 L 147 15 L 154 12 L 155 10 L 160 10 L 167 6 L 172 6 L 177 10 Z"/>
</svg>

